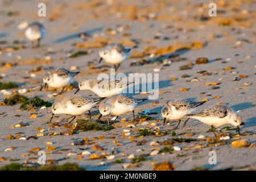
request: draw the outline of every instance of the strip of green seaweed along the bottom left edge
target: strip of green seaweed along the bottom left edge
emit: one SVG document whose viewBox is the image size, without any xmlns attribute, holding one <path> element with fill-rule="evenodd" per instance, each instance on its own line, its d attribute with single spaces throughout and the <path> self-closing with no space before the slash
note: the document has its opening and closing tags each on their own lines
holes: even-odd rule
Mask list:
<svg viewBox="0 0 256 182">
<path fill-rule="evenodd" d="M 19 163 L 10 163 L 0 167 L 0 171 L 85 171 L 85 169 L 79 167 L 76 163 L 40 167 L 27 167 Z"/>
</svg>

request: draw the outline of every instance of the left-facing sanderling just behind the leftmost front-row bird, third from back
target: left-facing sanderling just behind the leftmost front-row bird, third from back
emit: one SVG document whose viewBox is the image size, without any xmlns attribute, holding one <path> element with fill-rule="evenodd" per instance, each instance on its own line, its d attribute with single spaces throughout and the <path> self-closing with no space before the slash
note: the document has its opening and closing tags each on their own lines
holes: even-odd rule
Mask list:
<svg viewBox="0 0 256 182">
<path fill-rule="evenodd" d="M 43 77 L 44 81 L 44 89 L 46 89 L 48 86 L 51 86 L 52 88 L 60 88 L 61 90 L 60 94 L 63 92 L 64 87 L 71 84 L 73 81 L 73 77 L 75 77 L 80 72 L 70 72 L 65 68 L 49 68 L 46 72 L 46 75 Z M 41 88 L 42 90 L 42 88 Z M 55 90 L 53 92 L 55 92 Z"/>
</svg>

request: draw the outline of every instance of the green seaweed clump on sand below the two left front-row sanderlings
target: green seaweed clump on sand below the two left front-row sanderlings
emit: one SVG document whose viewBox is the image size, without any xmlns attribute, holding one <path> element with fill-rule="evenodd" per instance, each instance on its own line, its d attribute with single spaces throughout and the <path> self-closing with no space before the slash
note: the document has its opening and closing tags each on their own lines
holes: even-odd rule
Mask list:
<svg viewBox="0 0 256 182">
<path fill-rule="evenodd" d="M 114 129 L 113 126 L 102 126 L 100 123 L 96 121 L 92 121 L 90 119 L 78 119 L 76 122 L 76 130 L 81 131 L 91 131 L 91 130 L 103 130 L 103 131 L 109 131 Z"/>
</svg>

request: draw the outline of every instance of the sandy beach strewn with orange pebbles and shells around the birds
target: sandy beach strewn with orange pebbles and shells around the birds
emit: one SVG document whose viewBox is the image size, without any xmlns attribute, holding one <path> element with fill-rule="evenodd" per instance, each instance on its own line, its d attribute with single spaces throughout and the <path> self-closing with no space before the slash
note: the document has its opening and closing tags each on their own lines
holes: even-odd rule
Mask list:
<svg viewBox="0 0 256 182">
<path fill-rule="evenodd" d="M 256 169 L 254 1 L 213 1 L 217 5 L 213 17 L 208 15 L 209 1 L 43 1 L 46 17 L 38 16 L 40 2 L 0 2 L 0 82 L 18 85 L 0 93 L 0 166 L 34 164 L 38 152 L 44 151 L 49 165 L 77 163 L 86 170 L 152 170 L 163 162 L 173 164 L 175 170 Z M 39 48 L 31 48 L 22 29 L 34 21 L 46 27 Z M 5 104 L 5 98 L 17 93 L 51 103 L 61 101 L 76 91 L 80 80 L 109 75 L 112 65 L 98 64 L 98 51 L 110 43 L 131 48 L 116 74 L 159 74 L 159 97 L 135 109 L 136 115 L 150 111 L 148 121 L 133 122 L 132 113 L 127 113 L 112 130 L 75 131 L 72 123 L 67 125 L 69 115 L 45 124 L 51 107 L 21 110 L 20 104 Z M 206 58 L 203 64 L 197 60 L 200 57 Z M 80 72 L 56 97 L 49 97 L 52 89 L 39 90 L 51 66 Z M 90 91 L 80 94 L 97 97 Z M 145 93 L 129 95 L 148 97 Z M 163 126 L 163 105 L 177 99 L 207 101 L 196 111 L 221 104 L 232 107 L 245 122 L 241 135 L 234 126 L 225 125 L 214 137 L 208 132 L 210 126 L 195 119 L 185 127 L 182 122 L 176 130 L 176 121 Z M 92 119 L 96 121 L 98 114 L 97 105 Z M 111 118 L 104 117 L 104 121 Z M 26 126 L 15 127 L 20 122 Z M 159 134 L 140 136 L 140 129 Z M 246 144 L 236 147 L 235 141 Z M 216 152 L 217 164 L 209 164 L 210 151 Z M 143 159 L 134 160 L 138 156 Z"/>
</svg>

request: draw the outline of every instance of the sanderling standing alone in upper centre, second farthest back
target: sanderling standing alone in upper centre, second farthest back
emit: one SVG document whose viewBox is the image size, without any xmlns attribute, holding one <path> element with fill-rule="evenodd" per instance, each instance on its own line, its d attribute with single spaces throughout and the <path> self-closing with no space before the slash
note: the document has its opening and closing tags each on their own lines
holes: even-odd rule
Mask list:
<svg viewBox="0 0 256 182">
<path fill-rule="evenodd" d="M 104 50 L 99 52 L 100 61 L 103 59 L 106 63 L 113 64 L 114 69 L 117 70 L 122 63 L 128 57 L 128 53 L 131 51 L 130 48 L 126 49 L 121 44 L 110 44 Z"/>
</svg>

